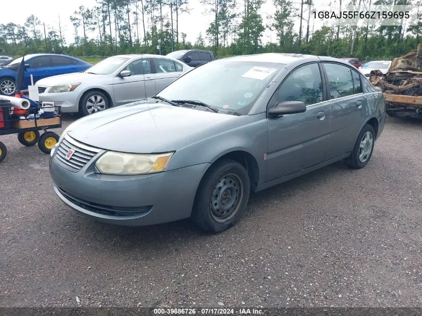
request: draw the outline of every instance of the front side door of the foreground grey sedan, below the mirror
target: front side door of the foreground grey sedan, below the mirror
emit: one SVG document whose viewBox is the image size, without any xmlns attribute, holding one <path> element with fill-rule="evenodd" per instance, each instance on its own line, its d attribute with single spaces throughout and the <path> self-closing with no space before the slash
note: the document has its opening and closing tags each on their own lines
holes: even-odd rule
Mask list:
<svg viewBox="0 0 422 316">
<path fill-rule="evenodd" d="M 282 82 L 268 108 L 283 101 L 302 101 L 304 113 L 268 118 L 269 148 L 266 181 L 275 180 L 325 160 L 331 131 L 331 108 L 326 100 L 318 63 L 301 66 Z"/>
</svg>

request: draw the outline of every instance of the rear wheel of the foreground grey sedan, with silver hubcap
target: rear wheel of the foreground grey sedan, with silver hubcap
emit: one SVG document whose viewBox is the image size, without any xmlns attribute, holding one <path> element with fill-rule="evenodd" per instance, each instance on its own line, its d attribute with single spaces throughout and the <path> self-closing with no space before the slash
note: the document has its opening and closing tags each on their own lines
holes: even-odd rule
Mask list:
<svg viewBox="0 0 422 316">
<path fill-rule="evenodd" d="M 369 133 L 369 134 L 368 134 Z M 371 140 L 365 140 L 365 137 L 371 135 Z M 365 145 L 361 146 L 361 142 L 365 141 Z M 346 165 L 354 169 L 365 167 L 372 157 L 375 145 L 375 131 L 370 124 L 366 124 L 359 133 L 355 146 L 353 147 L 352 154 L 345 159 Z M 362 159 L 365 158 L 365 159 Z"/>
</svg>

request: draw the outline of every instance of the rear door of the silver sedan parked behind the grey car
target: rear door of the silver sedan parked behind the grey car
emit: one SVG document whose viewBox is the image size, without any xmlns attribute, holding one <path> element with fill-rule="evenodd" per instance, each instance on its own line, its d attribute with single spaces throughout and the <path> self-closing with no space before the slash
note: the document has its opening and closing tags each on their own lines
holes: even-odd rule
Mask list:
<svg viewBox="0 0 422 316">
<path fill-rule="evenodd" d="M 167 58 L 152 58 L 155 70 L 155 93 L 160 92 L 183 74 L 180 63 Z"/>
</svg>

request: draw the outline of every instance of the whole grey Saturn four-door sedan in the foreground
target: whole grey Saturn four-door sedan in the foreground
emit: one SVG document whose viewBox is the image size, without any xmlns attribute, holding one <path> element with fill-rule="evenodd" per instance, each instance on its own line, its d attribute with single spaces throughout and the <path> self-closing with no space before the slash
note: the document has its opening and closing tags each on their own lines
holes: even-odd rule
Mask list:
<svg viewBox="0 0 422 316">
<path fill-rule="evenodd" d="M 129 226 L 191 218 L 220 232 L 251 191 L 339 160 L 365 167 L 385 121 L 382 92 L 347 62 L 231 57 L 73 122 L 49 170 L 58 197 L 90 218 Z"/>
</svg>

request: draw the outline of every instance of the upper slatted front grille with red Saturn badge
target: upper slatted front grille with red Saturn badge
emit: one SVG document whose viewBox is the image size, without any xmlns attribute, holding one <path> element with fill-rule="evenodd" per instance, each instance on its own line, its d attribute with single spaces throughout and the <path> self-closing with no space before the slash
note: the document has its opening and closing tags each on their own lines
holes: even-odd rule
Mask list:
<svg viewBox="0 0 422 316">
<path fill-rule="evenodd" d="M 74 152 L 70 159 L 67 159 L 66 156 L 69 154 L 70 150 L 73 150 Z M 58 145 L 55 157 L 61 164 L 67 167 L 66 169 L 77 172 L 100 151 L 101 149 L 99 148 L 87 146 L 66 135 Z"/>
</svg>

